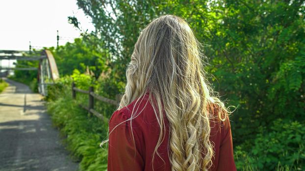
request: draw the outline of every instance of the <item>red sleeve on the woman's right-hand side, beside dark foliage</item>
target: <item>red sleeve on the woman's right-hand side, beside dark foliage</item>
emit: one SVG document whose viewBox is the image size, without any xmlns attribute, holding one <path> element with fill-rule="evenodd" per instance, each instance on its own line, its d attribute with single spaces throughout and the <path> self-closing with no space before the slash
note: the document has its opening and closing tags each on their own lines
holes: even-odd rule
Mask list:
<svg viewBox="0 0 305 171">
<path fill-rule="evenodd" d="M 236 171 L 233 157 L 233 143 L 229 117 L 221 122 L 221 143 L 217 171 Z"/>
</svg>

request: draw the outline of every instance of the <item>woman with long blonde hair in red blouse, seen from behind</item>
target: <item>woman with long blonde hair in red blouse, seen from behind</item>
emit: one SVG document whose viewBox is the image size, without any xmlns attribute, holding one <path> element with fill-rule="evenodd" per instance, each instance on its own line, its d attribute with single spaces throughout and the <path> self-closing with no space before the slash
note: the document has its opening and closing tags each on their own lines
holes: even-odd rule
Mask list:
<svg viewBox="0 0 305 171">
<path fill-rule="evenodd" d="M 231 112 L 208 85 L 199 45 L 173 15 L 142 31 L 109 121 L 108 171 L 236 170 Z"/>
</svg>

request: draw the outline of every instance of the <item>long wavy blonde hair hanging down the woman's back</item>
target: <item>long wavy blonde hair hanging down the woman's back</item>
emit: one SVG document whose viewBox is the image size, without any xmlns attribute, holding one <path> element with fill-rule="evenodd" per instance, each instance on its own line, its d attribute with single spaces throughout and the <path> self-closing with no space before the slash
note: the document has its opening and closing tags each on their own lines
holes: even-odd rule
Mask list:
<svg viewBox="0 0 305 171">
<path fill-rule="evenodd" d="M 164 15 L 143 29 L 127 65 L 126 91 L 118 109 L 134 100 L 138 103 L 139 97 L 149 92 L 149 102 L 160 127 L 153 158 L 155 154 L 160 156 L 157 149 L 164 140 L 163 116 L 166 116 L 172 171 L 207 171 L 213 157 L 209 140 L 212 111 L 217 108 L 221 121 L 230 113 L 205 78 L 206 57 L 200 47 L 186 21 Z M 137 117 L 135 107 L 128 119 L 130 125 Z"/>
</svg>

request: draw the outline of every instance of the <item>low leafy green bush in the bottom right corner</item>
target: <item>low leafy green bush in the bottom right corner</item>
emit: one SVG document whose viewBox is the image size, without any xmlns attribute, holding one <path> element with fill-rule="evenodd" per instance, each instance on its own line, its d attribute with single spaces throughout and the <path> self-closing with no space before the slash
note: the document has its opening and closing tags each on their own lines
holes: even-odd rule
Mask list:
<svg viewBox="0 0 305 171">
<path fill-rule="evenodd" d="M 305 123 L 277 119 L 271 131 L 260 127 L 254 145 L 235 148 L 236 166 L 253 171 L 305 170 Z M 246 152 L 250 151 L 250 152 Z"/>
</svg>

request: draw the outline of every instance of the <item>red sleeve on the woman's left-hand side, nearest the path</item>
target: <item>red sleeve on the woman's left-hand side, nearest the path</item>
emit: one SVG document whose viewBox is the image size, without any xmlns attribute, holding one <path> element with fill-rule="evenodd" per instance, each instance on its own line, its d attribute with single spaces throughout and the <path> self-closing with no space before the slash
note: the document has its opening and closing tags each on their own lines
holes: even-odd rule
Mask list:
<svg viewBox="0 0 305 171">
<path fill-rule="evenodd" d="M 134 137 L 133 141 L 130 121 L 126 121 L 127 119 L 127 116 L 121 110 L 117 110 L 109 120 L 107 171 L 144 170 L 145 163 L 140 153 L 138 134 L 135 129 L 132 129 Z M 132 121 L 132 127 L 134 128 L 134 121 Z"/>
</svg>

